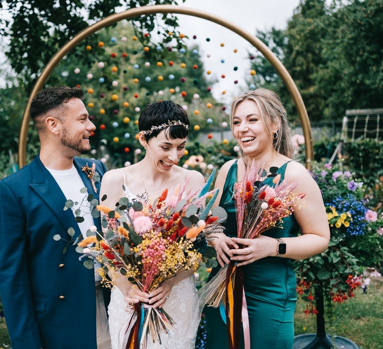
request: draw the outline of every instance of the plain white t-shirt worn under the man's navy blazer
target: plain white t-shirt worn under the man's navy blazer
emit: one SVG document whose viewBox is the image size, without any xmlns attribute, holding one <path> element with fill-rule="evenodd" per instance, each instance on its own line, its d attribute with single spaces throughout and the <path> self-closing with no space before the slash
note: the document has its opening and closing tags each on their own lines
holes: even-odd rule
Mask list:
<svg viewBox="0 0 383 349">
<path fill-rule="evenodd" d="M 77 169 L 74 165 L 72 165 L 72 168 L 69 170 L 52 170 L 46 168 L 49 173 L 53 176 L 53 178 L 56 180 L 58 186 L 60 187 L 61 191 L 65 195 L 67 200 L 72 200 L 73 202 L 80 203 L 79 206 L 75 206 L 74 208 L 80 208 L 83 213 L 84 221 L 81 223 L 77 223 L 78 227 L 80 228 L 82 236 L 86 237 L 86 231 L 94 225 L 93 217 L 90 214 L 88 201 L 86 200 L 88 193 L 81 193 L 80 189 L 84 188 L 84 182 L 82 181 L 80 174 L 77 172 Z M 82 205 L 81 205 L 82 202 Z M 64 205 L 62 206 L 64 208 Z M 73 215 L 74 214 L 74 211 Z M 85 214 L 86 213 L 86 214 Z M 95 273 L 95 280 L 99 281 L 101 280 L 101 277 L 98 273 Z"/>
</svg>

